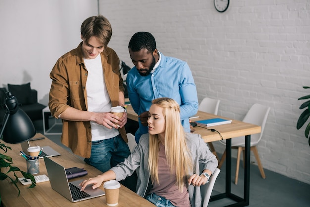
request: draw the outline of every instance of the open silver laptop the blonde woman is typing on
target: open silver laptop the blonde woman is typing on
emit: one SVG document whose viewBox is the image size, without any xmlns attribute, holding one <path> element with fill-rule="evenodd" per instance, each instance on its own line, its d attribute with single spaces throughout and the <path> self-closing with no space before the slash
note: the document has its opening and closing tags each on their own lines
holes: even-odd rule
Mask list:
<svg viewBox="0 0 310 207">
<path fill-rule="evenodd" d="M 79 184 L 83 181 L 83 179 L 69 183 L 65 168 L 63 166 L 57 164 L 46 156 L 44 157 L 44 163 L 52 189 L 67 198 L 69 201 L 78 202 L 105 195 L 103 190 L 100 188 L 93 189 L 92 185 L 88 185 L 84 191 L 80 191 Z"/>
</svg>

